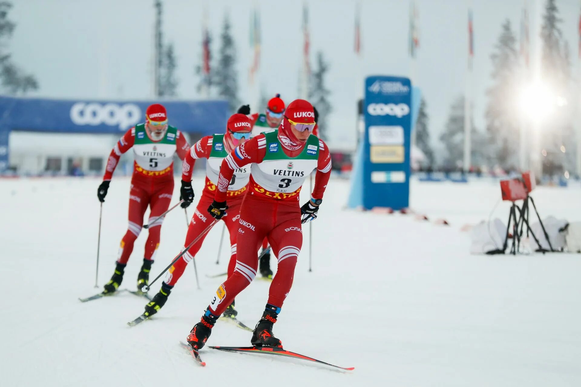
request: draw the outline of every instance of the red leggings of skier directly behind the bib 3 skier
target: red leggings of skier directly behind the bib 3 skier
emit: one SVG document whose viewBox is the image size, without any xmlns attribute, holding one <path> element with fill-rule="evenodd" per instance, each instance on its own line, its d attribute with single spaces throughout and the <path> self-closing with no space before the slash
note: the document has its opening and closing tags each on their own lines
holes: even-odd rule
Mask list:
<svg viewBox="0 0 581 387">
<path fill-rule="evenodd" d="M 192 216 L 192 221 L 189 223 L 188 234 L 185 237 L 184 248 L 187 247 L 192 241 L 199 236 L 203 230 L 214 220 L 208 214 L 208 207 L 214 200 L 213 197 L 202 196 L 196 207 L 196 212 Z M 239 198 L 231 199 L 228 201 L 228 211 L 227 216 L 224 216 L 222 220 L 224 221 L 228 233 L 230 234 L 230 246 L 231 255 L 230 261 L 228 263 L 228 276 L 234 272 L 234 266 L 236 265 L 236 235 L 238 230 L 238 220 L 240 216 L 238 215 L 240 211 L 240 205 L 242 204 L 242 196 Z M 170 286 L 174 286 L 175 283 L 180 279 L 182 274 L 184 274 L 185 267 L 188 265 L 189 261 L 192 261 L 193 257 L 198 253 L 202 243 L 206 238 L 207 233 L 198 240 L 189 250 L 185 253 L 182 258 L 178 259 L 170 270 L 167 272 L 166 279 L 164 282 Z"/>
</svg>

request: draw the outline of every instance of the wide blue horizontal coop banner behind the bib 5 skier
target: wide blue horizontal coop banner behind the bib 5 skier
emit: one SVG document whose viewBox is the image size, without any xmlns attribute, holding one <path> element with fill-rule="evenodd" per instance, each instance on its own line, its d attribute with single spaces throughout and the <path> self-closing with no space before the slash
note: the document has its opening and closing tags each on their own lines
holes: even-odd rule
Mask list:
<svg viewBox="0 0 581 387">
<path fill-rule="evenodd" d="M 0 172 L 8 168 L 10 131 L 121 136 L 145 121 L 145 109 L 152 103 L 163 103 L 170 125 L 186 133 L 221 133 L 228 120 L 228 103 L 223 100 L 160 102 L 0 97 Z"/>
</svg>

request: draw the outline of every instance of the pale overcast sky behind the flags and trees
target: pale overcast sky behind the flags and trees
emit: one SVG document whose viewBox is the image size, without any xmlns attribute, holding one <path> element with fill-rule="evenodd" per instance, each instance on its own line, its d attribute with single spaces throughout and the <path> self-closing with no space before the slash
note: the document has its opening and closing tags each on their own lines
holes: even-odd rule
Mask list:
<svg viewBox="0 0 581 387">
<path fill-rule="evenodd" d="M 541 0 L 538 0 L 541 1 Z M 21 67 L 40 82 L 38 96 L 63 98 L 145 99 L 151 95 L 153 0 L 13 0 L 10 18 L 17 23 L 10 49 Z M 252 61 L 250 14 L 260 8 L 262 56 L 260 85 L 286 103 L 297 97 L 302 64 L 302 1 L 203 2 L 164 0 L 163 31 L 178 60 L 179 97 L 197 99 L 193 68 L 200 62 L 202 5 L 207 3 L 213 55 L 224 13 L 228 12 L 238 46 L 239 97 L 253 102 L 248 87 Z M 363 57 L 353 52 L 354 0 L 311 0 L 311 62 L 322 50 L 331 70 L 327 78 L 333 113 L 331 142 L 354 142 L 356 92 L 363 75 L 410 75 L 406 0 L 361 1 Z M 450 104 L 464 92 L 467 62 L 467 9 L 474 9 L 474 108 L 479 129 L 485 126 L 485 91 L 490 86 L 490 53 L 503 20 L 519 35 L 524 0 L 417 0 L 420 48 L 416 84 L 428 103 L 432 143 L 442 131 Z M 533 3 L 533 0 L 529 0 Z M 544 0 L 542 0 L 544 4 Z M 579 0 L 557 0 L 562 31 L 576 66 Z M 532 12 L 531 12 L 532 13 Z M 533 33 L 533 31 L 532 31 Z M 257 107 L 253 106 L 253 111 Z M 262 108 L 260 108 L 262 110 Z"/>
</svg>

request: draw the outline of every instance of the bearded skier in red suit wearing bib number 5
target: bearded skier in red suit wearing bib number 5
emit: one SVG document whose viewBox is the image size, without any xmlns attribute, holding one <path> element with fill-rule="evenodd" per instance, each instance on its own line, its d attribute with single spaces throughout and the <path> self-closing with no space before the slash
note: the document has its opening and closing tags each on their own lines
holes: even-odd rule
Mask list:
<svg viewBox="0 0 581 387">
<path fill-rule="evenodd" d="M 149 205 L 149 236 L 145 242 L 144 263 L 137 277 L 138 290 L 141 291 L 148 284 L 149 270 L 159 247 L 159 234 L 163 222 L 163 218 L 156 218 L 167 211 L 174 191 L 174 153 L 177 152 L 181 160 L 184 160 L 188 153 L 189 144 L 184 135 L 167 124 L 165 107 L 159 103 L 152 104 L 145 111 L 145 117 L 144 124 L 129 129 L 113 147 L 103 182 L 97 191 L 99 201 L 105 201 L 113 171 L 121 154 L 132 148 L 135 163 L 129 192 L 129 225 L 121 240 L 115 272 L 105 285 L 103 293 L 106 294 L 116 291 L 123 281 L 125 266 L 133 251 L 133 244 L 141 232 L 145 210 Z M 184 208 L 188 205 L 189 202 L 182 203 Z"/>
</svg>

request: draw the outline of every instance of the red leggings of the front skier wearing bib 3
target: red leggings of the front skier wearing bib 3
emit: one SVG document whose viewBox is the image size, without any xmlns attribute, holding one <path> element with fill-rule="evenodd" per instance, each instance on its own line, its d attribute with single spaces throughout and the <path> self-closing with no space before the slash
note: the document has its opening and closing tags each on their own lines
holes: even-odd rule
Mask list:
<svg viewBox="0 0 581 387">
<path fill-rule="evenodd" d="M 256 276 L 257 251 L 268 238 L 277 256 L 277 274 L 272 279 L 268 303 L 282 307 L 292 287 L 295 266 L 303 244 L 299 202 L 277 200 L 247 194 L 240 208 L 238 254 L 232 276 L 218 287 L 210 302 L 210 312 L 220 316 L 239 292 Z"/>
</svg>

